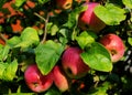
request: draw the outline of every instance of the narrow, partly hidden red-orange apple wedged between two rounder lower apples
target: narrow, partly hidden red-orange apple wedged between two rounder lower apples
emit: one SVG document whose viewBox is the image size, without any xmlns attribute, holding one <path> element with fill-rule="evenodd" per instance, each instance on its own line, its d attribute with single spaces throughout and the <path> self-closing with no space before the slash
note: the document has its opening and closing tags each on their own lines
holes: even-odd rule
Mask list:
<svg viewBox="0 0 132 95">
<path fill-rule="evenodd" d="M 65 92 L 69 88 L 68 85 L 68 80 L 65 76 L 63 70 L 61 68 L 61 66 L 56 65 L 53 68 L 53 78 L 54 78 L 54 83 L 56 85 L 56 87 L 61 91 L 61 92 Z"/>
</svg>

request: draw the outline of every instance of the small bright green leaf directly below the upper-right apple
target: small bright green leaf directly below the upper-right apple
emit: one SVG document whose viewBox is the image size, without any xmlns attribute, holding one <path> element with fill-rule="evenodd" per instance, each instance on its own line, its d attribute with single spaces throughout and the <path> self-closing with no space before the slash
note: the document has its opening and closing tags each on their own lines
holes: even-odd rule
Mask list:
<svg viewBox="0 0 132 95">
<path fill-rule="evenodd" d="M 84 50 L 86 45 L 91 44 L 97 39 L 94 32 L 81 32 L 79 36 L 76 38 L 79 46 Z"/>
</svg>

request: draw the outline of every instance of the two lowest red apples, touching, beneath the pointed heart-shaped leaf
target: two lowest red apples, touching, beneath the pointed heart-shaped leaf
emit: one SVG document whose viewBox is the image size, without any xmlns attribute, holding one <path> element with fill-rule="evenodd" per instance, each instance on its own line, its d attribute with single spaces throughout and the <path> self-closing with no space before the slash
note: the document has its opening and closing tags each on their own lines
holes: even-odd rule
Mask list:
<svg viewBox="0 0 132 95">
<path fill-rule="evenodd" d="M 47 75 L 42 75 L 37 65 L 31 64 L 24 72 L 24 80 L 29 88 L 35 93 L 47 91 L 53 83 L 61 92 L 68 89 L 68 81 L 58 65 Z"/>
</svg>

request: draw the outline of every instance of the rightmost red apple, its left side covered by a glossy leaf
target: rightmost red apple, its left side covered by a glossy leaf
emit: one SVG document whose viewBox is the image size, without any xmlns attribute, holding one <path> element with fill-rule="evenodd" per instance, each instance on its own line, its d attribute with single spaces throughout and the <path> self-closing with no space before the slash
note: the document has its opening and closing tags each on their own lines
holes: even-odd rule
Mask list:
<svg viewBox="0 0 132 95">
<path fill-rule="evenodd" d="M 120 36 L 109 33 L 99 41 L 110 52 L 112 62 L 118 62 L 125 52 L 125 46 Z"/>
</svg>

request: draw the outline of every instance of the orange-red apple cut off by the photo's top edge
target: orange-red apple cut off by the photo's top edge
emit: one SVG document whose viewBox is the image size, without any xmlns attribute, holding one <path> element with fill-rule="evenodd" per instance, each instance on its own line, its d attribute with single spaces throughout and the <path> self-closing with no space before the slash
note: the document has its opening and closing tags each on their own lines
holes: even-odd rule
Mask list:
<svg viewBox="0 0 132 95">
<path fill-rule="evenodd" d="M 63 10 L 70 9 L 72 4 L 73 4 L 73 0 L 56 0 L 57 8 Z"/>
</svg>

